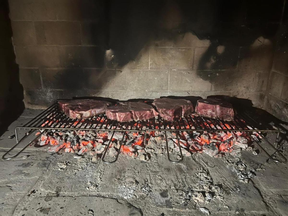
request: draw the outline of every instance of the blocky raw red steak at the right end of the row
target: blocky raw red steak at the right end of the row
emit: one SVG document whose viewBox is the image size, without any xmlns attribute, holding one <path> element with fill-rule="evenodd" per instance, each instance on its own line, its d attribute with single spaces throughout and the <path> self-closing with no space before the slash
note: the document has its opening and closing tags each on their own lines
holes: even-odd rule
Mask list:
<svg viewBox="0 0 288 216">
<path fill-rule="evenodd" d="M 219 118 L 227 121 L 232 121 L 234 119 L 232 105 L 216 98 L 198 100 L 195 112 L 209 118 Z"/>
</svg>

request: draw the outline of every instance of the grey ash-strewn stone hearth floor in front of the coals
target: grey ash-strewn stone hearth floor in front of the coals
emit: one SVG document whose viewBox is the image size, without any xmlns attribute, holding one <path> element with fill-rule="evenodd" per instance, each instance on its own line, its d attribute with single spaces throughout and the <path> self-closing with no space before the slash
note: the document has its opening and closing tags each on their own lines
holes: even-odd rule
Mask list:
<svg viewBox="0 0 288 216">
<path fill-rule="evenodd" d="M 15 144 L 8 138 L 13 128 L 39 112 L 25 110 L 0 137 L 1 157 Z M 286 157 L 287 146 L 281 147 Z M 0 159 L 0 167 L 0 215 L 288 214 L 287 164 L 267 160 L 261 151 L 223 158 L 194 154 L 180 164 L 165 154 L 146 163 L 120 154 L 107 165 L 90 155 L 74 159 L 29 147 L 18 158 Z"/>
</svg>

